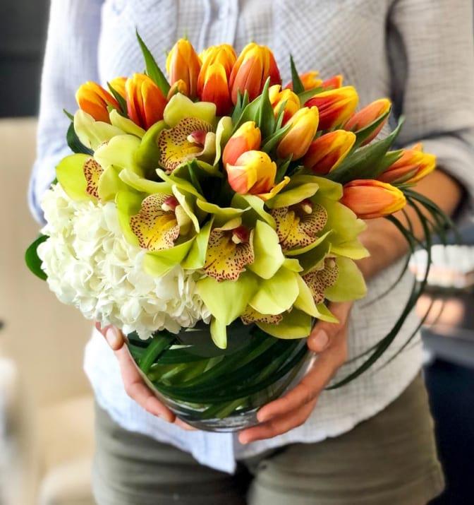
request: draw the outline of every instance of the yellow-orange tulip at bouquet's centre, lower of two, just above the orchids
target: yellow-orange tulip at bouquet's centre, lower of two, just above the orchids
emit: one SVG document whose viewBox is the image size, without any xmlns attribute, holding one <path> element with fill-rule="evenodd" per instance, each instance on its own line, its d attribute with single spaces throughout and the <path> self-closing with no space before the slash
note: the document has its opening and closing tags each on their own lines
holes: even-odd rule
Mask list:
<svg viewBox="0 0 474 505">
<path fill-rule="evenodd" d="M 229 185 L 239 194 L 260 194 L 271 191 L 275 184 L 277 165 L 263 151 L 250 150 L 241 154 L 235 165 L 226 165 Z"/>
</svg>

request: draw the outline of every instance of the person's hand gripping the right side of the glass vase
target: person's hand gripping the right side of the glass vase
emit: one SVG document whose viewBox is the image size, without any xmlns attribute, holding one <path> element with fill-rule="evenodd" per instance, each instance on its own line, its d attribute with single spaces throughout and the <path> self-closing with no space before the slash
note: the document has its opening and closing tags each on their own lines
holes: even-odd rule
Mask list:
<svg viewBox="0 0 474 505">
<path fill-rule="evenodd" d="M 334 303 L 330 309 L 339 323 L 318 321 L 308 337 L 308 347 L 317 354 L 298 386 L 285 396 L 267 403 L 257 412 L 260 424 L 244 429 L 242 444 L 270 439 L 303 424 L 315 408 L 317 398 L 339 367 L 347 360 L 348 318 L 352 303 Z"/>
</svg>

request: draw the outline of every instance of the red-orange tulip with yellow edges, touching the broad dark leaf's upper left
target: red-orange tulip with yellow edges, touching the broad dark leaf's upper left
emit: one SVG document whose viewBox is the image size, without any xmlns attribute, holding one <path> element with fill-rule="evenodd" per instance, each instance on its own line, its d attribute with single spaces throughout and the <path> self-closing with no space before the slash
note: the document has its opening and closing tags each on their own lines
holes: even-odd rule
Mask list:
<svg viewBox="0 0 474 505">
<path fill-rule="evenodd" d="M 334 130 L 318 137 L 308 148 L 303 165 L 316 174 L 328 174 L 346 158 L 356 142 L 352 131 Z"/>
</svg>

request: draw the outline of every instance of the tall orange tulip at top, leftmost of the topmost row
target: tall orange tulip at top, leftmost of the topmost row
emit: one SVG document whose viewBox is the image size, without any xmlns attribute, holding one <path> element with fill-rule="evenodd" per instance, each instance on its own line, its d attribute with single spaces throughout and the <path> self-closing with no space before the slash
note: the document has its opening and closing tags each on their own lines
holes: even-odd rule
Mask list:
<svg viewBox="0 0 474 505">
<path fill-rule="evenodd" d="M 178 40 L 166 58 L 170 85 L 174 85 L 176 81 L 184 81 L 188 88 L 188 97 L 196 98 L 200 69 L 201 62 L 192 44 L 185 39 Z"/>
</svg>

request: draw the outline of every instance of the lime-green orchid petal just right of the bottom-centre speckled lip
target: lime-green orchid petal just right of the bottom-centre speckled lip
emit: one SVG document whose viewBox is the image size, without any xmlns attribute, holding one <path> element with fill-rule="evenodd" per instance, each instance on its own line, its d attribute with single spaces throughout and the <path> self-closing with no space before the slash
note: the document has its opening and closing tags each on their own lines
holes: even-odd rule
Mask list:
<svg viewBox="0 0 474 505">
<path fill-rule="evenodd" d="M 272 278 L 285 261 L 277 232 L 261 220 L 255 225 L 253 251 L 255 260 L 247 268 L 263 279 Z"/>
</svg>

